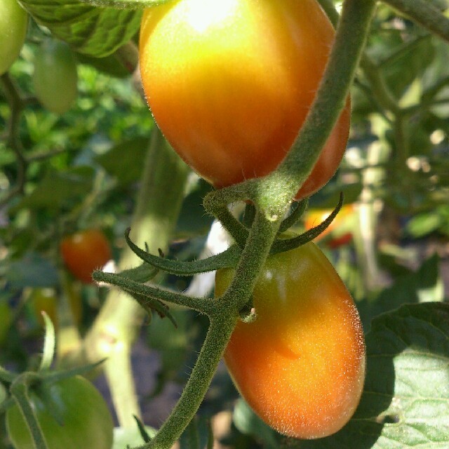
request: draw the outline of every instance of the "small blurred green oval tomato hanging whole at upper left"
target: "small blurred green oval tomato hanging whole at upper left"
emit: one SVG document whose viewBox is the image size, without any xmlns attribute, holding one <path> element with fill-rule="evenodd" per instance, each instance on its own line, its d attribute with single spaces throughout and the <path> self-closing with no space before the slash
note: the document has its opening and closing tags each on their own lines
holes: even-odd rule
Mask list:
<svg viewBox="0 0 449 449">
<path fill-rule="evenodd" d="M 67 43 L 48 39 L 36 51 L 34 90 L 43 107 L 64 114 L 76 99 L 76 61 Z"/>
</svg>

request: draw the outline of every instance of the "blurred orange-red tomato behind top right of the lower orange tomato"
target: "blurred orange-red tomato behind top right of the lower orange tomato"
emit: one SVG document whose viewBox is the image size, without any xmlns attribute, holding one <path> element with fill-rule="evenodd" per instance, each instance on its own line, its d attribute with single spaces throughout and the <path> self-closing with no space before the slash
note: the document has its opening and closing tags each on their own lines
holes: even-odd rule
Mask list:
<svg viewBox="0 0 449 449">
<path fill-rule="evenodd" d="M 318 226 L 332 213 L 331 209 L 309 209 L 304 218 L 306 231 Z M 333 222 L 316 237 L 315 241 L 324 239 L 329 248 L 339 248 L 347 245 L 352 240 L 352 229 L 356 218 L 356 207 L 354 204 L 345 204 L 340 209 Z"/>
</svg>

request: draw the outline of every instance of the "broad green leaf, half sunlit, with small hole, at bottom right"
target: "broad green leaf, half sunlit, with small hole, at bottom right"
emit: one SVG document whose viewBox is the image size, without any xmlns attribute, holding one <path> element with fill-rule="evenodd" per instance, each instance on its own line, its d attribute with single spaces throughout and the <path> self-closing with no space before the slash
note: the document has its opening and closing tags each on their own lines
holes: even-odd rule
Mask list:
<svg viewBox="0 0 449 449">
<path fill-rule="evenodd" d="M 354 417 L 304 449 L 449 447 L 449 304 L 404 305 L 373 321 Z"/>
</svg>

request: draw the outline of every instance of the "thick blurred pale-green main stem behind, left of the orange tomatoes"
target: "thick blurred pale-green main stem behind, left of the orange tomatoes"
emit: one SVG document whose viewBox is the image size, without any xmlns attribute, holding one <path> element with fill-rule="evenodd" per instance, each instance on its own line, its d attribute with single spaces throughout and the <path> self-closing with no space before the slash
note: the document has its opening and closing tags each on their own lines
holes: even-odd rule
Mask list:
<svg viewBox="0 0 449 449">
<path fill-rule="evenodd" d="M 135 239 L 146 242 L 154 253 L 166 250 L 184 197 L 189 170 L 168 147 L 160 131 L 154 127 L 131 227 Z M 126 246 L 119 269 L 135 267 L 137 255 Z M 109 290 L 83 345 L 69 356 L 76 364 L 107 358 L 104 369 L 121 427 L 135 428 L 133 415 L 140 417 L 135 384 L 130 366 L 131 345 L 138 335 L 146 312 L 132 297 L 116 288 Z"/>
</svg>

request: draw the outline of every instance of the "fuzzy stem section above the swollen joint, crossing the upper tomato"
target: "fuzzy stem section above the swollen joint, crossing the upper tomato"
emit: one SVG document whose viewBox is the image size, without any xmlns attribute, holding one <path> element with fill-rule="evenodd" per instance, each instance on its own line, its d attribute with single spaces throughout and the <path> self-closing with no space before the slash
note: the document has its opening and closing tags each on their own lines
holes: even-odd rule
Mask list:
<svg viewBox="0 0 449 449">
<path fill-rule="evenodd" d="M 278 186 L 277 192 L 284 192 L 284 201 L 290 199 L 307 179 L 345 105 L 366 43 L 375 4 L 374 0 L 344 2 L 335 43 L 314 103 L 293 148 L 276 172 L 269 176 L 272 180 L 262 190 L 262 200 L 264 196 L 269 197 L 267 192 L 272 186 Z"/>
</svg>

